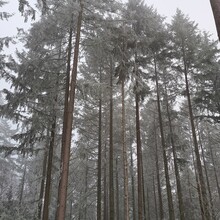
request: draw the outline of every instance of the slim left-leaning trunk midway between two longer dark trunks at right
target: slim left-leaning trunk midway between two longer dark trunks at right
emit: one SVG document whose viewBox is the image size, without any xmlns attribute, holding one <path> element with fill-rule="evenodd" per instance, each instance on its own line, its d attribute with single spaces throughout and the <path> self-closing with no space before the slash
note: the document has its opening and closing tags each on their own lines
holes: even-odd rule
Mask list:
<svg viewBox="0 0 220 220">
<path fill-rule="evenodd" d="M 184 210 L 184 204 L 183 204 L 183 194 L 182 194 L 182 187 L 181 187 L 181 182 L 180 182 L 180 173 L 179 173 L 179 168 L 177 164 L 176 145 L 174 143 L 174 138 L 173 138 L 173 126 L 172 126 L 171 115 L 170 115 L 170 110 L 169 110 L 166 82 L 165 82 L 165 92 L 166 92 L 165 99 L 166 99 L 167 117 L 168 117 L 169 130 L 170 130 L 170 141 L 171 141 L 172 152 L 173 152 L 174 171 L 175 171 L 175 177 L 176 177 L 177 196 L 178 196 L 178 202 L 179 202 L 180 220 L 184 220 L 185 210 Z"/>
</svg>

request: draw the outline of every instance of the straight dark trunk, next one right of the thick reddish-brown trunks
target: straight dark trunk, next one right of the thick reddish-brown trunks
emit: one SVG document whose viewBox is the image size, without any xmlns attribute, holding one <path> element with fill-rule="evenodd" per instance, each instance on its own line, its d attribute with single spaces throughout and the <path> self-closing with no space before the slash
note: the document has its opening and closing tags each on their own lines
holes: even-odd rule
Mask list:
<svg viewBox="0 0 220 220">
<path fill-rule="evenodd" d="M 97 220 L 102 217 L 102 73 L 100 69 L 100 93 L 99 93 L 99 141 L 98 141 L 98 181 L 97 181 Z"/>
</svg>

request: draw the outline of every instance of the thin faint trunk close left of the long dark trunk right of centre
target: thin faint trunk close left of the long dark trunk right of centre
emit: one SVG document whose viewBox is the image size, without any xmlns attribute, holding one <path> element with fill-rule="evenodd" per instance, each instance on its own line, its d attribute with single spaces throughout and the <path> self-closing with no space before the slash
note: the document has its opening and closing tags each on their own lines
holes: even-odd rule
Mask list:
<svg viewBox="0 0 220 220">
<path fill-rule="evenodd" d="M 161 185 L 160 185 L 160 168 L 159 168 L 158 146 L 157 146 L 157 130 L 156 130 L 155 120 L 154 120 L 154 133 L 155 133 L 155 161 L 156 161 L 156 172 L 157 172 L 157 190 L 158 190 L 160 220 L 163 220 L 164 219 L 163 199 L 162 199 L 162 192 L 161 192 Z"/>
</svg>

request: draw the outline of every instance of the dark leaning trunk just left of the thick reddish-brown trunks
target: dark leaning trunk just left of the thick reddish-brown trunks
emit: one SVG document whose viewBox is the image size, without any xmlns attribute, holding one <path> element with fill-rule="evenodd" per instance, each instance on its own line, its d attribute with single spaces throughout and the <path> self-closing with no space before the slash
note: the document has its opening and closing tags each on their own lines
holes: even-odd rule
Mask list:
<svg viewBox="0 0 220 220">
<path fill-rule="evenodd" d="M 57 97 L 56 97 L 56 101 L 57 101 Z M 55 130 L 56 130 L 56 113 L 54 113 L 54 119 L 53 119 L 53 123 L 51 127 L 42 220 L 49 219 L 49 205 L 50 205 L 51 176 L 52 176 L 52 166 L 53 166 L 53 150 L 54 150 L 54 143 L 55 143 Z"/>
</svg>

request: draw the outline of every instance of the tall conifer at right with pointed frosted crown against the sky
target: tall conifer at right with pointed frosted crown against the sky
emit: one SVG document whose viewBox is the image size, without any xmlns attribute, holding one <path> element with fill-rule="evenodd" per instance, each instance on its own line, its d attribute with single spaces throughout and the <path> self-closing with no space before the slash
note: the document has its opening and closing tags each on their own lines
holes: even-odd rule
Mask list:
<svg viewBox="0 0 220 220">
<path fill-rule="evenodd" d="M 195 130 L 191 91 L 189 85 L 189 77 L 192 77 L 192 73 L 195 71 L 193 63 L 195 63 L 196 54 L 200 47 L 200 37 L 198 35 L 197 26 L 193 22 L 190 22 L 189 19 L 185 17 L 180 10 L 177 10 L 176 15 L 173 18 L 171 31 L 173 33 L 175 55 L 180 59 L 180 63 L 175 65 L 175 68 L 178 70 L 178 72 L 184 74 L 185 80 L 185 93 L 188 101 L 189 118 L 196 156 L 196 170 L 198 172 L 198 193 L 201 194 L 200 204 L 202 218 L 210 219 L 209 203 L 200 159 L 197 134 Z"/>
</svg>

